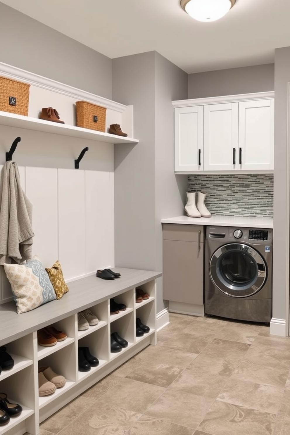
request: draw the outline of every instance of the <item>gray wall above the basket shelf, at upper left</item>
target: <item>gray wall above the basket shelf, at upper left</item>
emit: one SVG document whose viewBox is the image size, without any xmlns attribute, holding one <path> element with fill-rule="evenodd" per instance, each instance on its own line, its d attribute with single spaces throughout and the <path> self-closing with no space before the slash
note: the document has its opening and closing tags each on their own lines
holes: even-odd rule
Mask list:
<svg viewBox="0 0 290 435">
<path fill-rule="evenodd" d="M 0 3 L 0 62 L 112 98 L 109 57 L 3 3 Z"/>
</svg>

